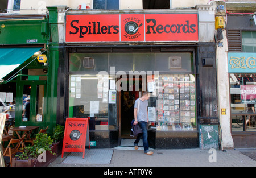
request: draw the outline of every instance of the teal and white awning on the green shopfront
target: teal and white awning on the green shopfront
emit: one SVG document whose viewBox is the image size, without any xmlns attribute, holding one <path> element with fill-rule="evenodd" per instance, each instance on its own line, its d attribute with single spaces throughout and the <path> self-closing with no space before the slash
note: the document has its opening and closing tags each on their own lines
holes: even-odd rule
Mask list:
<svg viewBox="0 0 256 178">
<path fill-rule="evenodd" d="M 42 47 L 0 48 L 0 80 Z"/>
</svg>

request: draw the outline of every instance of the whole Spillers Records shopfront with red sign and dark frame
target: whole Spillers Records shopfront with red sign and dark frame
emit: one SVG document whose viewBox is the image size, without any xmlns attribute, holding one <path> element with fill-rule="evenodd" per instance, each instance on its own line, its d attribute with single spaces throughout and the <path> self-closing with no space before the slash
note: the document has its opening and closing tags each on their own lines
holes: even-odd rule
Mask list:
<svg viewBox="0 0 256 178">
<path fill-rule="evenodd" d="M 218 113 L 216 80 L 209 79 L 216 76 L 214 43 L 199 43 L 196 10 L 67 10 L 65 20 L 65 43 L 59 44 L 61 122 L 89 118 L 96 148 L 120 146 L 131 138 L 134 102 L 147 90 L 150 147 L 199 147 L 199 128 L 214 125 Z"/>
</svg>

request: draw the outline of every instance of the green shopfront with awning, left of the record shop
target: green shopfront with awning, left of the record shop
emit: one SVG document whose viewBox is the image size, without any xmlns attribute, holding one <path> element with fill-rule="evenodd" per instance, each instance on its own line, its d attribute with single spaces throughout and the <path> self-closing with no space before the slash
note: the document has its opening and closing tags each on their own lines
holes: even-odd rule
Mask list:
<svg viewBox="0 0 256 178">
<path fill-rule="evenodd" d="M 54 65 L 48 50 L 51 45 L 48 22 L 45 15 L 1 16 L 0 92 L 6 104 L 16 101 L 15 126 L 40 126 L 40 129 L 49 126 L 48 133 L 52 133 L 56 125 L 52 102 L 55 81 L 51 77 Z M 39 55 L 47 60 L 38 60 Z M 30 114 L 24 118 L 22 112 L 27 97 Z"/>
</svg>

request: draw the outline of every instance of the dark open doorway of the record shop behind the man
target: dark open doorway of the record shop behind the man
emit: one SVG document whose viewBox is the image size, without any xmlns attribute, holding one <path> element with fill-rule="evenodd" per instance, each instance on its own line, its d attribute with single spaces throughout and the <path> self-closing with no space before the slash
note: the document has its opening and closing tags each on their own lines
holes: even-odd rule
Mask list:
<svg viewBox="0 0 256 178">
<path fill-rule="evenodd" d="M 121 87 L 126 85 L 127 89 L 122 87 L 120 96 L 120 130 L 121 138 L 131 138 L 131 121 L 134 119 L 134 103 L 141 97 L 142 78 L 120 78 Z M 139 86 L 138 86 L 139 85 Z"/>
</svg>

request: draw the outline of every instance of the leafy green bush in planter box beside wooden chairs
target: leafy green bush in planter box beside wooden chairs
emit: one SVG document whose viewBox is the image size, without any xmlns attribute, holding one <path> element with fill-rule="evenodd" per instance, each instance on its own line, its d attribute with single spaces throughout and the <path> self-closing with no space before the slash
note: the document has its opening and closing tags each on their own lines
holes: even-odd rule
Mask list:
<svg viewBox="0 0 256 178">
<path fill-rule="evenodd" d="M 38 167 L 49 165 L 55 159 L 55 153 L 52 152 L 52 143 L 53 140 L 47 134 L 36 134 L 34 144 L 24 147 L 22 154 L 16 155 L 15 158 L 13 158 L 13 166 Z M 46 152 L 42 153 L 42 151 Z"/>
</svg>

